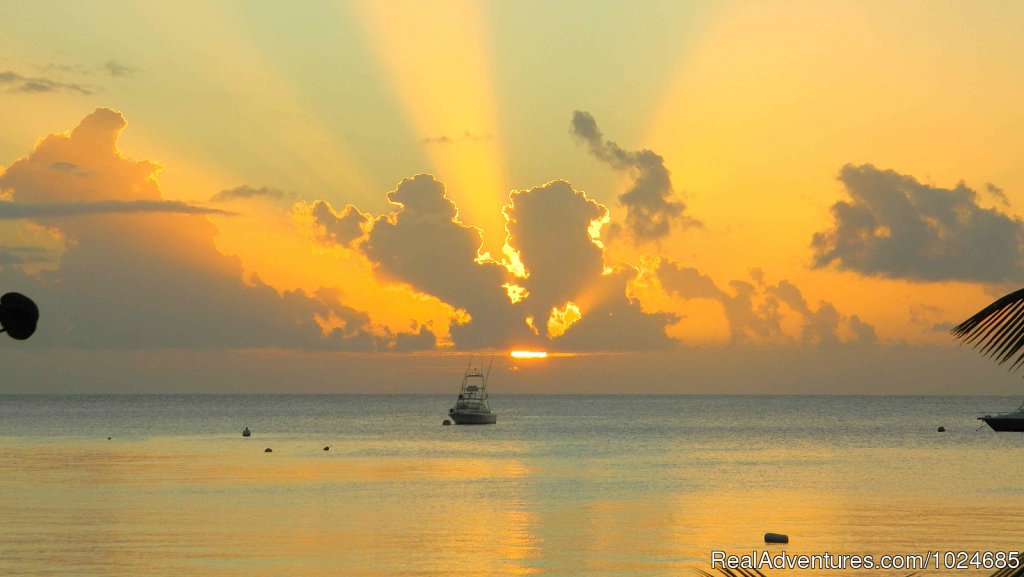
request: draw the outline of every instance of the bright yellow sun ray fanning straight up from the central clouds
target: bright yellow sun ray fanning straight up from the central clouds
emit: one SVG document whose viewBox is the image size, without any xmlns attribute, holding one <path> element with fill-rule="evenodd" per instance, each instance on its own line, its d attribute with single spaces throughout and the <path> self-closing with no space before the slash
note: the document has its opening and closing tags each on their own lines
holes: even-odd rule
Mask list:
<svg viewBox="0 0 1024 577">
<path fill-rule="evenodd" d="M 434 175 L 463 221 L 483 229 L 484 250 L 500 254 L 510 187 L 482 9 L 470 0 L 355 4 Z"/>
</svg>

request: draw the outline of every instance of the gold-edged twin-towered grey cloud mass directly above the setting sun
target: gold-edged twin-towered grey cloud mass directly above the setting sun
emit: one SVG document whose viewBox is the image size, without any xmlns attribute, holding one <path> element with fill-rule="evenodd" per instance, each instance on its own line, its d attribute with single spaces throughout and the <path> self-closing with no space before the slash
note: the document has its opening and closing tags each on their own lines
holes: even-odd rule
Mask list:
<svg viewBox="0 0 1024 577">
<path fill-rule="evenodd" d="M 322 241 L 364 254 L 381 282 L 408 285 L 458 311 L 450 325 L 457 347 L 607 351 L 674 343 L 666 327 L 675 316 L 644 313 L 629 297 L 636 271 L 605 266 L 596 238 L 607 209 L 568 182 L 514 191 L 503 207 L 507 255 L 522 264 L 524 278 L 510 272 L 511 261 L 480 254 L 480 231 L 462 222 L 433 176 L 402 179 L 388 200 L 396 210 L 377 217 L 354 206 L 339 214 L 324 201 L 297 206 L 314 215 Z M 396 335 L 393 346 L 426 346 L 430 338 L 435 335 L 421 326 L 419 333 Z"/>
</svg>

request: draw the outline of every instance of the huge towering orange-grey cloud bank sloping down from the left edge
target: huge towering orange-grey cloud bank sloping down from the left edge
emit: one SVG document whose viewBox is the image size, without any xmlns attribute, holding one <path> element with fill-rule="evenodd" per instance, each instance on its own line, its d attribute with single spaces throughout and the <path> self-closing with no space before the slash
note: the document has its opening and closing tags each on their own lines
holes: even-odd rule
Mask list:
<svg viewBox="0 0 1024 577">
<path fill-rule="evenodd" d="M 43 138 L 0 173 L 0 189 L 15 201 L 8 204 L 61 207 L 32 214 L 47 216 L 66 240 L 59 266 L 34 275 L 16 266 L 0 272 L 0 284 L 31 295 L 43 311 L 30 346 L 384 345 L 366 314 L 344 305 L 338 293 L 279 292 L 255 276 L 245 278 L 238 258 L 217 250 L 217 229 L 205 214 L 181 213 L 163 199 L 156 164 L 118 152 L 124 127 L 119 113 L 97 109 L 71 133 Z M 54 170 L 54 163 L 86 175 Z M 104 210 L 70 217 L 69 206 Z M 111 207 L 130 214 L 111 214 Z"/>
</svg>

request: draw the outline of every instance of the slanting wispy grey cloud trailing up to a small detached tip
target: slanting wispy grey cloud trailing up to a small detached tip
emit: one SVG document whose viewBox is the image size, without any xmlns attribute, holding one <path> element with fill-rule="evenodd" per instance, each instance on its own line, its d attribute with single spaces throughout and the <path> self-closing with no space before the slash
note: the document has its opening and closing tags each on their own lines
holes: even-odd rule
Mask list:
<svg viewBox="0 0 1024 577">
<path fill-rule="evenodd" d="M 594 117 L 586 112 L 572 113 L 571 132 L 589 146 L 595 158 L 633 175 L 633 186 L 618 196 L 618 203 L 626 207 L 626 230 L 636 241 L 660 240 L 674 224 L 699 225 L 685 214 L 682 201 L 671 200 L 675 196 L 672 176 L 660 156 L 649 150 L 625 151 L 604 140 Z"/>
</svg>

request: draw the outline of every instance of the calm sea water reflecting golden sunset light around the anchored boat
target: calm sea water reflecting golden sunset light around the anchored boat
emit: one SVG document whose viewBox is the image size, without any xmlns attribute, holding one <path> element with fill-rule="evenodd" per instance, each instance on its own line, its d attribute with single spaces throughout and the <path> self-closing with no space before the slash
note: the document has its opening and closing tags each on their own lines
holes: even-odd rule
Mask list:
<svg viewBox="0 0 1024 577">
<path fill-rule="evenodd" d="M 1024 548 L 1024 434 L 975 420 L 1016 399 L 497 395 L 497 425 L 441 426 L 453 401 L 0 397 L 0 575 L 678 576 L 766 531 Z"/>
</svg>

